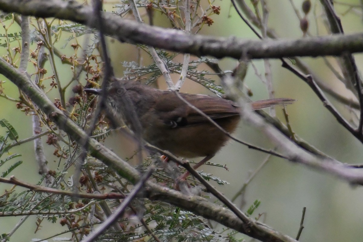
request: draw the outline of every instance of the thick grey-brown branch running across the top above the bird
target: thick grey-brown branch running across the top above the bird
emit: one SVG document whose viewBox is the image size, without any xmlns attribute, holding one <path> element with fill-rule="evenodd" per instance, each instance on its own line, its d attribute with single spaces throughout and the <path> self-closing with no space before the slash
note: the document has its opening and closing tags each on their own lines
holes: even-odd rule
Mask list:
<svg viewBox="0 0 363 242">
<path fill-rule="evenodd" d="M 67 19 L 91 28 L 98 28 L 92 9 L 76 1 L 56 0 L 0 0 L 0 9 L 36 17 Z M 236 37 L 221 38 L 190 35 L 181 30 L 164 29 L 135 21 L 124 20 L 112 13 L 103 14 L 104 32 L 122 42 L 144 44 L 195 56 L 217 58 L 247 57 L 281 58 L 289 56 L 340 56 L 342 53 L 363 51 L 363 33 L 298 40 L 241 40 Z"/>
</svg>

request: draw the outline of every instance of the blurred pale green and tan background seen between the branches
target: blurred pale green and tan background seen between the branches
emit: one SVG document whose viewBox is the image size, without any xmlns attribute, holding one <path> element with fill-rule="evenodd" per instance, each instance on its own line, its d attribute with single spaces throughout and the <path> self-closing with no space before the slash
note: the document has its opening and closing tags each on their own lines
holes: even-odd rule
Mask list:
<svg viewBox="0 0 363 242">
<path fill-rule="evenodd" d="M 302 1 L 294 0 L 294 5 L 301 12 Z M 319 1 L 311 1 L 312 7 L 307 19 L 309 20 L 309 33 L 312 36 L 326 35 L 324 27 L 325 19 L 322 16 L 321 4 Z M 339 17 L 345 33 L 362 32 L 363 29 L 363 14 L 362 8 L 359 6 L 359 0 L 345 0 L 344 3 L 334 1 L 334 7 Z M 111 11 L 115 2 L 105 1 L 105 7 Z M 201 34 L 209 36 L 236 36 L 246 40 L 255 39 L 257 37 L 244 24 L 237 15 L 229 1 L 216 1 L 215 5 L 221 6 L 220 15 L 213 15 L 214 23 L 211 26 L 204 26 Z M 281 38 L 301 38 L 303 33 L 299 26 L 299 19 L 295 15 L 294 9 L 290 1 L 273 0 L 267 1 L 269 9 L 269 27 L 274 29 L 277 35 Z M 132 19 L 132 16 L 129 16 Z M 170 27 L 165 17 L 155 13 L 154 25 Z M 146 21 L 147 22 L 147 21 Z M 8 24 L 9 22 L 5 22 Z M 19 32 L 20 28 L 13 24 L 11 32 Z M 4 29 L 0 30 L 4 34 Z M 63 33 L 62 38 L 71 36 L 72 33 Z M 3 38 L 3 37 L 1 37 Z M 82 45 L 86 43 L 83 37 L 77 38 L 77 41 Z M 4 42 L 4 39 L 1 41 Z M 62 53 L 67 56 L 74 54 L 70 43 L 64 48 L 61 48 L 65 42 L 59 41 L 56 46 L 60 48 Z M 17 43 L 14 43 L 15 45 Z M 35 45 L 32 45 L 35 49 Z M 138 50 L 132 45 L 119 43 L 116 40 L 109 41 L 109 49 L 111 60 L 115 73 L 118 77 L 123 76 L 125 68 L 122 67 L 124 61 L 137 61 L 142 58 L 143 65 L 151 63 L 152 60 L 146 55 L 138 56 Z M 0 48 L 2 55 L 6 49 Z M 19 56 L 18 56 L 19 57 Z M 362 54 L 355 54 L 356 63 L 360 68 L 362 63 Z M 180 55 L 176 59 L 183 60 Z M 194 58 L 194 57 L 192 57 Z M 331 60 L 333 66 L 337 66 L 333 58 Z M 337 90 L 342 95 L 353 97 L 346 88 L 337 81 L 337 78 L 327 69 L 322 58 L 303 58 L 315 73 L 325 81 L 332 89 Z M 64 65 L 57 60 L 58 68 L 61 73 L 61 79 L 64 83 L 68 83 L 72 78 L 72 71 L 69 65 Z M 264 76 L 264 63 L 262 60 L 253 60 L 253 65 L 256 66 L 257 73 Z M 342 163 L 361 164 L 363 163 L 363 145 L 346 131 L 337 120 L 323 107 L 323 104 L 316 95 L 311 91 L 301 79 L 293 75 L 291 72 L 281 67 L 280 60 L 270 60 L 271 74 L 273 79 L 273 88 L 276 97 L 293 98 L 297 101 L 286 107 L 289 114 L 289 121 L 295 134 L 304 139 L 307 143 L 315 146 L 317 149 L 327 155 L 341 161 Z M 48 66 L 47 66 L 48 65 Z M 220 62 L 221 68 L 233 70 L 238 65 L 236 60 L 224 58 Z M 46 69 L 51 72 L 49 63 L 46 64 Z M 205 67 L 208 69 L 208 67 Z M 338 69 L 338 66 L 337 66 Z M 35 72 L 32 63 L 29 63 L 29 73 Z M 175 75 L 177 79 L 179 76 Z M 216 82 L 219 82 L 216 76 Z M 4 77 L 0 76 L 3 81 L 2 87 L 4 93 L 12 98 L 18 98 L 19 93 L 15 85 Z M 6 82 L 4 82 L 6 81 Z M 159 88 L 166 89 L 163 79 L 159 79 Z M 176 83 L 176 81 L 175 81 Z M 265 84 L 256 74 L 254 68 L 249 65 L 248 72 L 245 78 L 245 84 L 252 90 L 252 100 L 260 100 L 268 98 L 268 91 Z M 204 87 L 187 80 L 181 89 L 186 93 L 203 93 L 213 95 Z M 68 94 L 70 97 L 70 93 Z M 52 90 L 49 93 L 51 100 L 57 96 L 57 90 Z M 328 96 L 332 101 L 333 98 Z M 350 115 L 349 109 L 344 106 L 337 107 L 347 116 Z M 5 98 L 0 98 L 0 119 L 7 119 L 21 134 L 20 139 L 25 139 L 32 136 L 32 122 L 30 115 L 25 115 L 24 112 L 17 110 L 15 103 Z M 284 121 L 282 108 L 277 107 L 277 116 Z M 4 135 L 5 130 L 0 129 L 0 135 Z M 241 122 L 234 136 L 238 139 L 253 143 L 257 146 L 265 148 L 273 148 L 273 144 L 260 131 L 249 127 Z M 54 147 L 47 147 L 45 144 L 46 137 L 43 137 L 46 148 L 46 157 L 49 162 L 50 169 L 55 169 L 58 164 L 58 158 L 53 156 Z M 106 139 L 105 145 L 113 149 L 121 157 L 129 157 L 134 152 L 130 149 L 127 140 L 122 144 L 119 141 L 119 134 L 113 133 Z M 125 149 L 120 149 L 120 144 Z M 49 149 L 48 149 L 49 148 Z M 21 180 L 36 184 L 40 176 L 38 175 L 37 165 L 34 162 L 33 143 L 29 142 L 11 149 L 11 153 L 21 153 L 20 157 L 24 164 L 20 168 L 12 172 L 12 175 Z M 229 171 L 223 168 L 216 168 L 208 165 L 203 165 L 199 170 L 220 177 L 222 180 L 229 182 L 229 185 L 217 185 L 217 188 L 222 191 L 227 197 L 232 198 L 238 192 L 243 184 L 249 179 L 250 174 L 260 166 L 264 160 L 268 159 L 266 154 L 250 150 L 241 144 L 230 141 L 213 159 L 211 162 L 226 164 Z M 197 160 L 199 161 L 199 160 Z M 2 168 L 0 168 L 1 171 Z M 0 190 L 10 189 L 11 185 L 0 184 Z M 313 171 L 301 164 L 294 164 L 289 161 L 270 157 L 266 165 L 257 173 L 250 181 L 246 188 L 244 211 L 248 206 L 252 205 L 255 200 L 260 200 L 261 205 L 254 213 L 262 214 L 260 220 L 271 226 L 277 231 L 281 231 L 291 237 L 295 237 L 301 220 L 302 208 L 306 207 L 306 215 L 300 241 L 362 241 L 363 237 L 363 188 L 361 186 L 351 186 L 346 181 L 332 175 Z M 241 203 L 241 199 L 235 201 L 237 205 Z M 0 217 L 0 234 L 8 233 L 20 217 Z M 60 231 L 65 230 L 59 224 L 43 223 L 42 228 L 36 234 L 36 217 L 28 219 L 21 231 L 17 231 L 11 238 L 11 241 L 30 241 L 33 238 L 45 238 L 53 235 L 56 227 Z M 49 228 L 47 227 L 49 226 Z M 241 238 L 248 237 L 241 235 Z"/>
</svg>

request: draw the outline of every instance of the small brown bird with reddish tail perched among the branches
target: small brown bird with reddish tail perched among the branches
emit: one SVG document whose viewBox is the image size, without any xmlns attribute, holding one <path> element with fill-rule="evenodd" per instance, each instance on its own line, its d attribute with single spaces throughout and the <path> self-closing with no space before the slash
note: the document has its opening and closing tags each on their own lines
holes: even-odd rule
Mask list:
<svg viewBox="0 0 363 242">
<path fill-rule="evenodd" d="M 101 95 L 101 89 L 84 89 Z M 180 93 L 189 104 L 213 119 L 228 133 L 240 120 L 237 103 L 207 95 Z M 125 98 L 126 97 L 126 98 Z M 131 101 L 131 102 L 130 102 Z M 251 102 L 252 109 L 290 104 L 294 99 L 275 98 Z M 125 104 L 126 103 L 126 104 Z M 130 112 L 134 109 L 141 124 L 142 138 L 156 147 L 185 158 L 205 157 L 195 169 L 211 159 L 229 139 L 219 128 L 172 91 L 161 91 L 125 79 L 114 81 L 107 89 L 105 105 L 115 119 L 124 120 L 138 132 Z M 133 106 L 133 107 L 130 107 Z M 131 111 L 130 111 L 131 110 Z"/>
</svg>

